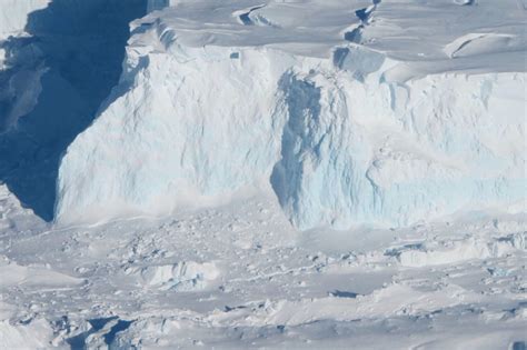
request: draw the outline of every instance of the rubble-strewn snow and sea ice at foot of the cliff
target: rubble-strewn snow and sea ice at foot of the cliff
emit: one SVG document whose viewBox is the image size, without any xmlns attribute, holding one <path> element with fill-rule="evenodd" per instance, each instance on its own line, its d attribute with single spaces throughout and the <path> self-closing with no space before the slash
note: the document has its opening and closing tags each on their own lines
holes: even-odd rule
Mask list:
<svg viewBox="0 0 527 350">
<path fill-rule="evenodd" d="M 260 194 L 177 219 L 58 229 L 6 190 L 0 202 L 0 348 L 494 350 L 527 341 L 525 213 L 299 233 Z"/>
</svg>

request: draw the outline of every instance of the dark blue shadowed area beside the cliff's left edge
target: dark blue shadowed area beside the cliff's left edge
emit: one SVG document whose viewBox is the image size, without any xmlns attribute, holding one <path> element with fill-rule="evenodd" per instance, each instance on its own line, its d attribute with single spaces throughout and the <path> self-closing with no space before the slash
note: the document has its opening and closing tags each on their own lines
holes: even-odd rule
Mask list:
<svg viewBox="0 0 527 350">
<path fill-rule="evenodd" d="M 0 181 L 53 218 L 60 158 L 121 74 L 129 22 L 147 0 L 52 0 L 28 16 L 30 38 L 2 43 Z"/>
</svg>

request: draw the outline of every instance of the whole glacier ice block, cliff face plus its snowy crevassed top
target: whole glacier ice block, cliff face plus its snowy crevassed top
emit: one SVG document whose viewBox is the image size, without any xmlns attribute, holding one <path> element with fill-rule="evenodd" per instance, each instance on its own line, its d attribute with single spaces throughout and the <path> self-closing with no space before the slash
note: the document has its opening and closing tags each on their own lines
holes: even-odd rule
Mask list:
<svg viewBox="0 0 527 350">
<path fill-rule="evenodd" d="M 400 39 L 389 2 L 179 1 L 135 22 L 119 87 L 62 159 L 58 221 L 168 214 L 261 179 L 299 229 L 525 201 L 516 3 L 406 2 L 414 21 L 475 21 L 425 41 L 444 23 Z M 499 16 L 503 33 L 470 36 Z"/>
</svg>

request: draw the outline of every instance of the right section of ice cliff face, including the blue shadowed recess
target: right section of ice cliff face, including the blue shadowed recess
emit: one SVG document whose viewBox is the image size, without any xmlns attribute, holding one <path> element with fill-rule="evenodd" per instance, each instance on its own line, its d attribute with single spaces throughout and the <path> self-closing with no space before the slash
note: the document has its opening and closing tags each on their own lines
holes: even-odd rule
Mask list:
<svg viewBox="0 0 527 350">
<path fill-rule="evenodd" d="M 271 183 L 297 227 L 406 226 L 525 200 L 524 74 L 406 87 L 351 74 L 280 81 L 287 122 Z"/>
</svg>

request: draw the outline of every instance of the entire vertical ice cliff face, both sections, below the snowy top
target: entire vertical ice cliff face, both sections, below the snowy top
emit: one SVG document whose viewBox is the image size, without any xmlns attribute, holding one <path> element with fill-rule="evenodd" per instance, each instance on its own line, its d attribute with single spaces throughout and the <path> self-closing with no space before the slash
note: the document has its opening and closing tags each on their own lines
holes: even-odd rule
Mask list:
<svg viewBox="0 0 527 350">
<path fill-rule="evenodd" d="M 138 60 L 126 93 L 62 159 L 59 220 L 169 213 L 261 178 L 300 229 L 405 226 L 525 197 L 525 104 L 509 93 L 524 74 L 401 87 L 237 53 Z"/>
</svg>

